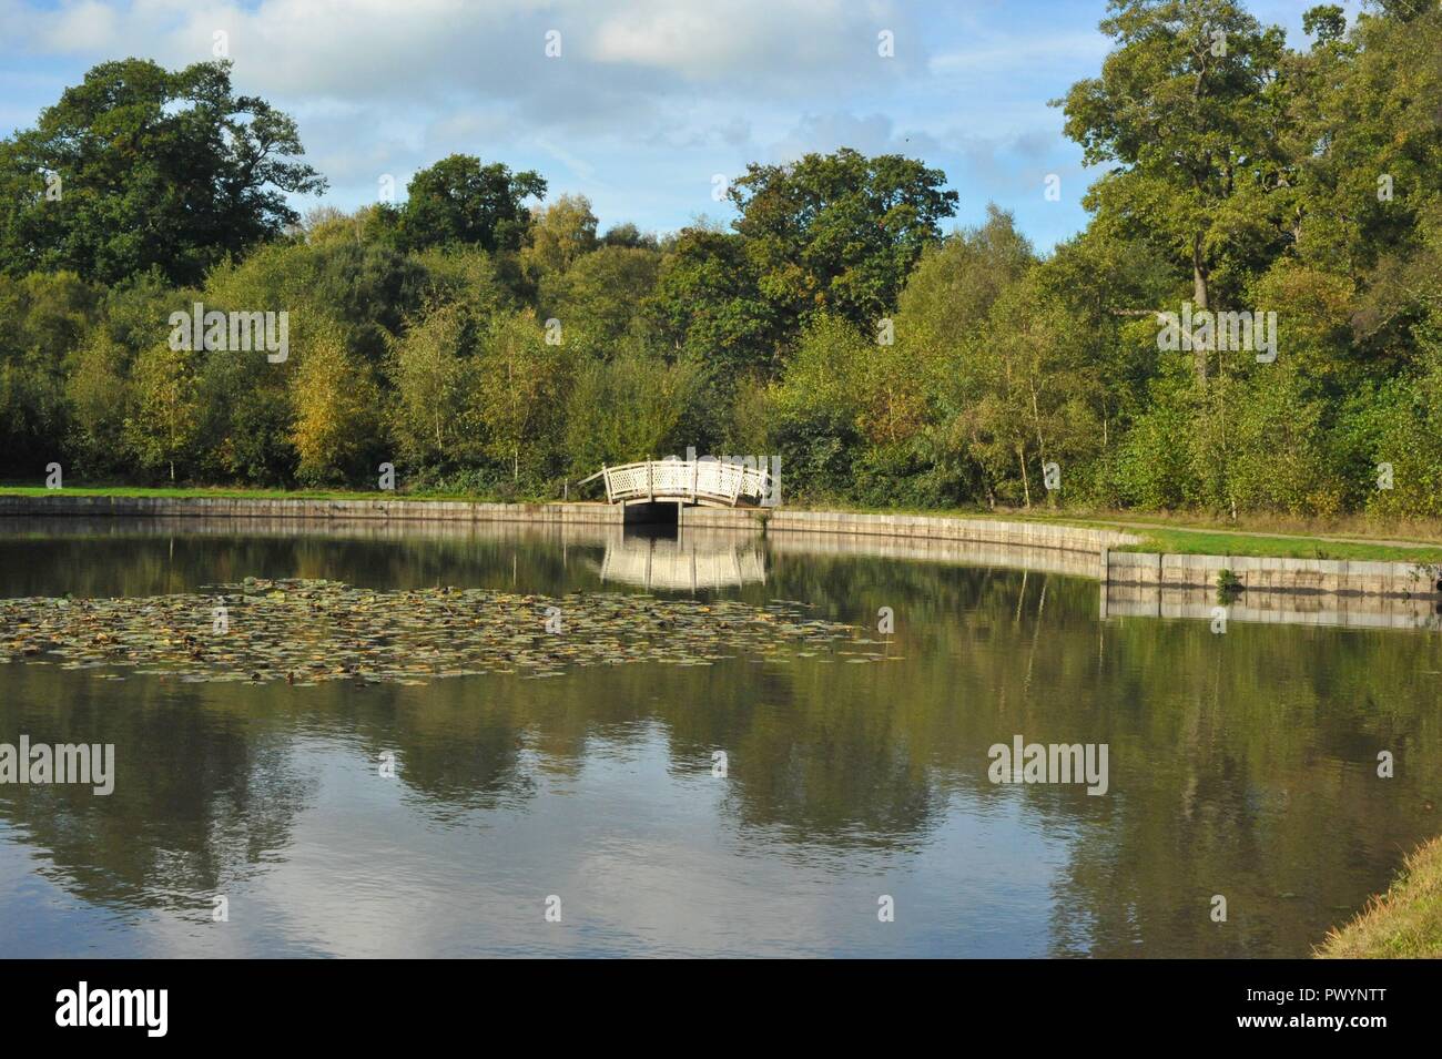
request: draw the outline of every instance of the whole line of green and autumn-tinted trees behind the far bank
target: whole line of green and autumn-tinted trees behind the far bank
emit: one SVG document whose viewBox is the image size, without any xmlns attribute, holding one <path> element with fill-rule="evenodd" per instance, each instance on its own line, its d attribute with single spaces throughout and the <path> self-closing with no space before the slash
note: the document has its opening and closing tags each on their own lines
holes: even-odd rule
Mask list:
<svg viewBox="0 0 1442 1059">
<path fill-rule="evenodd" d="M 943 233 L 945 173 L 849 148 L 663 236 L 461 154 L 300 216 L 324 179 L 228 63 L 102 63 L 0 141 L 0 470 L 551 499 L 694 445 L 779 455 L 787 500 L 1442 516 L 1436 4 L 1102 29 L 1050 254 L 995 207 Z M 172 349 L 195 303 L 287 311 L 290 356 Z M 1275 357 L 1164 349 L 1184 308 L 1275 313 Z"/>
</svg>

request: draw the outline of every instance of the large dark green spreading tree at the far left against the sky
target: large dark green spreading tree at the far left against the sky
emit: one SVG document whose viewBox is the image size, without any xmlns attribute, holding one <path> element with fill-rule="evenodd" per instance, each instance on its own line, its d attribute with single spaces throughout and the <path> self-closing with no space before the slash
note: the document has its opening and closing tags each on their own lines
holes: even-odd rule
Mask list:
<svg viewBox="0 0 1442 1059">
<path fill-rule="evenodd" d="M 101 63 L 0 141 L 0 269 L 195 282 L 298 220 L 286 195 L 324 190 L 303 153 L 290 117 L 232 94 L 228 61 Z"/>
</svg>

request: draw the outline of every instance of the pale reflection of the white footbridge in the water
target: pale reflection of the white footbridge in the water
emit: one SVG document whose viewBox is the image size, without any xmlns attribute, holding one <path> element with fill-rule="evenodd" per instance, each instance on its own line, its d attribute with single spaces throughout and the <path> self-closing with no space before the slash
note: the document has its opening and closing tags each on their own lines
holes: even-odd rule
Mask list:
<svg viewBox="0 0 1442 1059">
<path fill-rule="evenodd" d="M 701 588 L 741 588 L 766 582 L 760 537 L 624 536 L 606 543 L 601 581 L 646 589 L 695 592 Z"/>
</svg>

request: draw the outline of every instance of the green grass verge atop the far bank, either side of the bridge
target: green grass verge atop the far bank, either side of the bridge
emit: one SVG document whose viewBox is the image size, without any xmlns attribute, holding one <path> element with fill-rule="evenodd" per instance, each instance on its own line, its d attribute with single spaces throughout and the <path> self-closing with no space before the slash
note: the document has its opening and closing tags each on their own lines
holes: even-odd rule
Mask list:
<svg viewBox="0 0 1442 1059">
<path fill-rule="evenodd" d="M 376 490 L 304 490 L 278 488 L 146 488 L 134 486 L 82 486 L 58 491 L 61 496 L 108 497 L 222 497 L 222 499 L 294 499 L 294 500 L 375 500 Z M 0 486 L 0 496 L 55 496 L 39 486 Z M 464 493 L 391 494 L 404 500 L 489 500 Z M 580 497 L 577 497 L 580 499 Z M 818 510 L 844 510 L 864 514 L 929 514 L 950 519 L 1007 519 L 1011 522 L 1056 522 L 1066 526 L 1115 529 L 1141 537 L 1129 550 L 1167 552 L 1169 555 L 1244 555 L 1283 559 L 1358 559 L 1387 562 L 1442 563 L 1442 526 L 1416 523 L 1379 527 L 1360 519 L 1330 523 L 1243 519 L 1236 524 L 1217 524 L 1201 517 L 1136 514 L 1074 510 L 996 510 L 985 509 L 880 509 L 846 504 L 819 504 Z M 1373 537 L 1368 540 L 1368 537 Z M 1377 539 L 1396 543 L 1377 543 Z M 1412 543 L 1416 540 L 1416 543 Z"/>
</svg>

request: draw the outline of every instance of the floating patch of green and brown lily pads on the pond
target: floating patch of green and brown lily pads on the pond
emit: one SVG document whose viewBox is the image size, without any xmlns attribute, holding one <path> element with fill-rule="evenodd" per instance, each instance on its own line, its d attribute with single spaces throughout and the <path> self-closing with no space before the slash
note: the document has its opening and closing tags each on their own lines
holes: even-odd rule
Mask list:
<svg viewBox="0 0 1442 1059">
<path fill-rule="evenodd" d="M 336 581 L 247 578 L 205 594 L 0 599 L 0 661 L 128 669 L 180 682 L 326 680 L 424 684 L 482 673 L 555 677 L 572 667 L 887 657 L 805 604 L 663 599 L 479 588 L 382 591 Z M 861 656 L 861 657 L 857 657 Z"/>
</svg>

